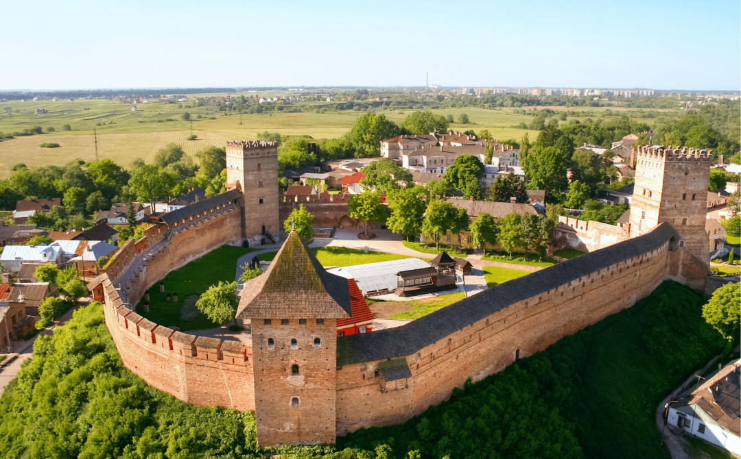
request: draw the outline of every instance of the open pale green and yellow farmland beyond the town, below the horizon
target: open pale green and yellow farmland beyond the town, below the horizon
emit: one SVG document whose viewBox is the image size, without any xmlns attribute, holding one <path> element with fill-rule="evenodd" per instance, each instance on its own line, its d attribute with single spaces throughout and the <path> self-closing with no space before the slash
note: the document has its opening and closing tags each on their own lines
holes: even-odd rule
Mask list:
<svg viewBox="0 0 741 459">
<path fill-rule="evenodd" d="M 238 93 L 240 94 L 240 93 Z M 244 93 L 245 96 L 260 94 L 278 96 L 284 92 Z M 196 95 L 197 96 L 197 95 Z M 208 96 L 215 96 L 209 94 Z M 328 113 L 285 113 L 274 112 L 260 114 L 227 115 L 215 112 L 214 107 L 191 107 L 191 103 L 179 104 L 137 104 L 136 112 L 131 111 L 130 104 L 119 104 L 117 101 L 86 100 L 76 101 L 10 101 L 4 107 L 10 107 L 10 115 L 0 113 L 0 133 L 15 133 L 31 127 L 40 126 L 41 135 L 19 136 L 0 142 L 0 179 L 10 176 L 10 167 L 23 162 L 28 167 L 45 164 L 64 164 L 75 158 L 84 161 L 95 159 L 93 130 L 98 136 L 99 158 L 110 158 L 126 167 L 136 158 L 146 162 L 153 159 L 157 150 L 172 142 L 178 144 L 188 155 L 193 155 L 205 147 L 216 145 L 222 147 L 227 140 L 255 139 L 264 131 L 287 135 L 310 135 L 312 138 L 336 138 L 350 130 L 356 118 L 366 113 L 360 110 L 346 110 Z M 48 113 L 40 115 L 36 109 L 43 108 Z M 523 107 L 528 108 L 528 107 Z M 539 107 L 539 110 L 545 107 Z M 566 107 L 555 107 L 565 109 Z M 569 110 L 595 110 L 600 107 L 576 107 Z M 457 119 L 461 113 L 468 115 L 469 124 L 451 124 L 456 131 L 488 130 L 494 138 L 514 138 L 519 141 L 528 133 L 531 141 L 537 137 L 536 130 L 522 130 L 512 127 L 533 118 L 528 115 L 512 113 L 510 108 L 502 110 L 484 110 L 479 108 L 456 108 L 431 110 L 439 115 L 453 115 Z M 397 124 L 415 110 L 378 110 Z M 182 119 L 189 113 L 191 121 Z M 582 121 L 586 116 L 578 116 Z M 649 121 L 648 118 L 637 118 L 638 121 Z M 69 124 L 71 130 L 63 130 Z M 198 135 L 198 140 L 187 141 L 190 129 Z M 48 133 L 52 127 L 53 132 Z M 42 143 L 57 143 L 61 147 L 42 149 Z"/>
</svg>

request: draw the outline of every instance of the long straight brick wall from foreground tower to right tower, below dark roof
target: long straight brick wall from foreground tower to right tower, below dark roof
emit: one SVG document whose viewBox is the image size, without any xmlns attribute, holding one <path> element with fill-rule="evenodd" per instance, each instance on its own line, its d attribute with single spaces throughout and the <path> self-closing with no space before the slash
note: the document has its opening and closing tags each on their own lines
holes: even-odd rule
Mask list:
<svg viewBox="0 0 741 459">
<path fill-rule="evenodd" d="M 468 378 L 480 381 L 647 296 L 667 278 L 668 244 L 511 304 L 406 356 L 412 377 L 385 392 L 380 362 L 337 372 L 337 435 L 402 423 L 445 401 Z"/>
</svg>

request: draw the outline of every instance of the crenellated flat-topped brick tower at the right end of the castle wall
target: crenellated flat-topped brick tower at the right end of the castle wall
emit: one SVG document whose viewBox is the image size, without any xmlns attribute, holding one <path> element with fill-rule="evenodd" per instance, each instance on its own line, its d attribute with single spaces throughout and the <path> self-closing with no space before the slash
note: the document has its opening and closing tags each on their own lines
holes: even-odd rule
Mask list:
<svg viewBox="0 0 741 459">
<path fill-rule="evenodd" d="M 669 260 L 672 278 L 702 289 L 710 266 L 705 232 L 712 152 L 638 147 L 631 201 L 631 237 L 662 222 L 677 231 Z"/>
</svg>

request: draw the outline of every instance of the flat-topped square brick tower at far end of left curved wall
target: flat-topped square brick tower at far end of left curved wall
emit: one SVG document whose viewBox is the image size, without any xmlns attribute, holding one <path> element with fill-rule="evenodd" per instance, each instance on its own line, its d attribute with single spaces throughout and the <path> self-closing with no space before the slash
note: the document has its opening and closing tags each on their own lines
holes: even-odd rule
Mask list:
<svg viewBox="0 0 741 459">
<path fill-rule="evenodd" d="M 250 246 L 278 241 L 278 146 L 274 142 L 227 142 L 227 188 L 245 198 L 243 236 Z"/>
</svg>

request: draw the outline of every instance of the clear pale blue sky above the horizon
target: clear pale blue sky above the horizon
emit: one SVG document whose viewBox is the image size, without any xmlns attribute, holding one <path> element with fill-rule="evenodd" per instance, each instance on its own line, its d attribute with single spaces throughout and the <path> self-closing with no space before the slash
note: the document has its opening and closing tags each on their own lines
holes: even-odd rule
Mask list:
<svg viewBox="0 0 741 459">
<path fill-rule="evenodd" d="M 741 2 L 8 1 L 0 89 L 739 90 Z"/>
</svg>

